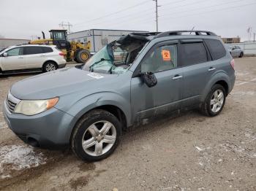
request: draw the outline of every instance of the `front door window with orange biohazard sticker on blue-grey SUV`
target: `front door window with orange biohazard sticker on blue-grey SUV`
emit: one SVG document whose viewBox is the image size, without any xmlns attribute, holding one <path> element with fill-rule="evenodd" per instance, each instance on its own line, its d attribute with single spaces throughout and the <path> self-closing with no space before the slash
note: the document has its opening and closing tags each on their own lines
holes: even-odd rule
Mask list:
<svg viewBox="0 0 256 191">
<path fill-rule="evenodd" d="M 141 63 L 141 72 L 156 73 L 177 67 L 177 46 L 164 45 L 155 48 Z"/>
</svg>

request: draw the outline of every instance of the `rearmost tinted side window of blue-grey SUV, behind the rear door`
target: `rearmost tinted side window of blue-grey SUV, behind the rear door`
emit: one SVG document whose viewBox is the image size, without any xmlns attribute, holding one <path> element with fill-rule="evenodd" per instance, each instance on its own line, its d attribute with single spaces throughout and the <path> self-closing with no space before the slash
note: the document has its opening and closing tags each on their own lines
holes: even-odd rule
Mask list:
<svg viewBox="0 0 256 191">
<path fill-rule="evenodd" d="M 206 45 L 211 52 L 212 59 L 218 60 L 226 55 L 226 50 L 223 47 L 222 42 L 214 39 L 205 39 Z"/>
</svg>

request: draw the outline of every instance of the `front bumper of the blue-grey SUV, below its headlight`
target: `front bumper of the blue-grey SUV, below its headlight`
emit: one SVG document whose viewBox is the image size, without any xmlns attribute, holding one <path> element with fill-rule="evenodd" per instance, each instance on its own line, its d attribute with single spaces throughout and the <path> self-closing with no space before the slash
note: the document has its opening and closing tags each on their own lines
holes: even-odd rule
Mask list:
<svg viewBox="0 0 256 191">
<path fill-rule="evenodd" d="M 3 113 L 10 129 L 34 147 L 59 149 L 69 145 L 74 117 L 59 109 L 53 107 L 40 114 L 26 116 L 10 113 L 4 101 Z"/>
</svg>

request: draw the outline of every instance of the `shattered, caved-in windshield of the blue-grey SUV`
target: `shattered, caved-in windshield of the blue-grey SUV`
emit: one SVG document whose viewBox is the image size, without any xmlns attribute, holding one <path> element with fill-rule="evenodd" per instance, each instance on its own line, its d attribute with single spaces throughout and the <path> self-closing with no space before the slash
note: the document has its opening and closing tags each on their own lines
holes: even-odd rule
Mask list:
<svg viewBox="0 0 256 191">
<path fill-rule="evenodd" d="M 86 62 L 83 70 L 105 74 L 124 73 L 148 42 L 145 37 L 140 39 L 138 35 L 135 37 L 122 36 L 117 41 L 107 44 Z"/>
</svg>

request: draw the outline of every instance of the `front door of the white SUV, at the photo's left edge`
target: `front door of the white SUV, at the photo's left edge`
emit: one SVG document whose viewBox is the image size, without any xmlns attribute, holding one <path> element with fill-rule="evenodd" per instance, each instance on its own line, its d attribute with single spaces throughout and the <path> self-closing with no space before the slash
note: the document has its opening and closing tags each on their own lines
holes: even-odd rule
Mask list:
<svg viewBox="0 0 256 191">
<path fill-rule="evenodd" d="M 7 50 L 7 55 L 7 57 L 1 57 L 3 71 L 26 69 L 23 47 L 15 47 L 11 50 Z"/>
</svg>

